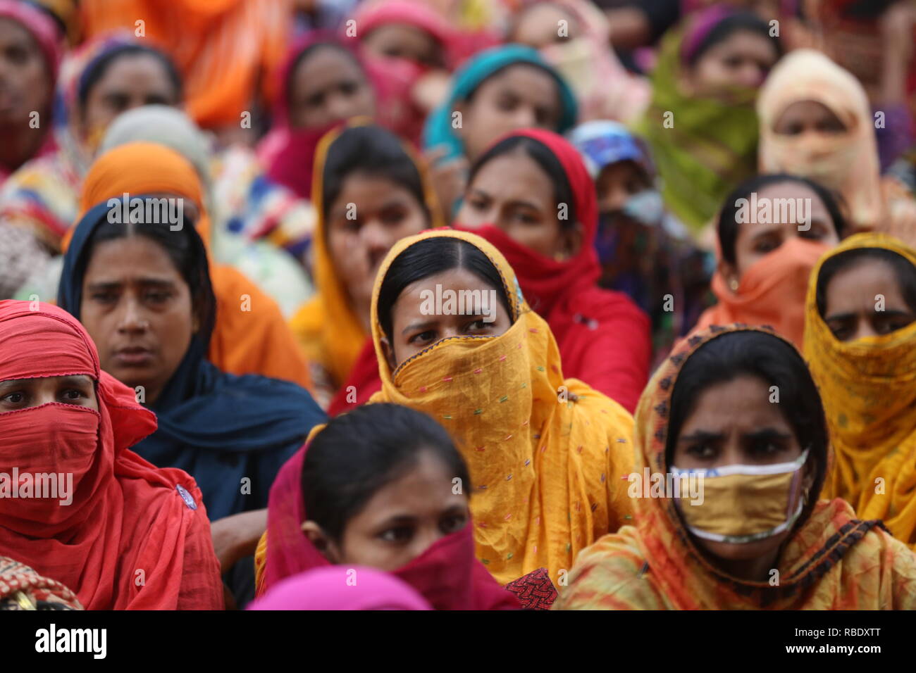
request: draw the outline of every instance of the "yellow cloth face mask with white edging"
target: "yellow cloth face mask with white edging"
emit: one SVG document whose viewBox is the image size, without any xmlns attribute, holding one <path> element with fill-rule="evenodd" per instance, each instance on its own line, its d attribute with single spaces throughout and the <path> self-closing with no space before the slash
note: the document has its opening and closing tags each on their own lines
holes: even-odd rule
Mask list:
<svg viewBox="0 0 916 673">
<path fill-rule="evenodd" d="M 806 449 L 795 461 L 773 465 L 672 467 L 676 477 L 698 480 L 701 494 L 692 500 L 689 490 L 682 489 L 678 511 L 693 535 L 715 542 L 740 544 L 778 535 L 802 514 L 803 499 L 796 497 L 794 503 L 792 494 L 807 460 Z"/>
</svg>

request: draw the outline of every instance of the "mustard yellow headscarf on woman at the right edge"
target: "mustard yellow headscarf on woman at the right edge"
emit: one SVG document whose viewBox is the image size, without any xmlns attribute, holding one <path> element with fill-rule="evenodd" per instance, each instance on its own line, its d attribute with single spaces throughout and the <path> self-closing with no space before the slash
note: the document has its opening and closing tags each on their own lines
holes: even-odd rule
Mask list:
<svg viewBox="0 0 916 673">
<path fill-rule="evenodd" d="M 841 342 L 817 310 L 824 262 L 863 248 L 889 250 L 916 266 L 916 251 L 897 239 L 861 233 L 812 271 L 804 354 L 821 389 L 835 456 L 824 495 L 849 501 L 860 518 L 883 519 L 894 537 L 916 546 L 916 323 Z"/>
</svg>

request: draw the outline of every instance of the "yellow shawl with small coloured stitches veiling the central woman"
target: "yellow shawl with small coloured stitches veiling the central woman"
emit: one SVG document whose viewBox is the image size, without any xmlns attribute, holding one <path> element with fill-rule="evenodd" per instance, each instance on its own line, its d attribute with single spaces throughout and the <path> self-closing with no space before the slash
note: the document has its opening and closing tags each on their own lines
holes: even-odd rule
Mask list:
<svg viewBox="0 0 916 673">
<path fill-rule="evenodd" d="M 498 337 L 443 339 L 391 372 L 377 312 L 382 281 L 398 255 L 437 236 L 489 257 L 513 325 Z M 630 518 L 619 477 L 632 470 L 632 417 L 583 382 L 564 379 L 550 327 L 525 302 L 506 258 L 483 238 L 438 230 L 395 244 L 376 277 L 372 338 L 382 389 L 370 403 L 417 409 L 452 435 L 474 484 L 477 558 L 500 583 L 547 568 L 559 584 L 582 548 Z"/>
</svg>

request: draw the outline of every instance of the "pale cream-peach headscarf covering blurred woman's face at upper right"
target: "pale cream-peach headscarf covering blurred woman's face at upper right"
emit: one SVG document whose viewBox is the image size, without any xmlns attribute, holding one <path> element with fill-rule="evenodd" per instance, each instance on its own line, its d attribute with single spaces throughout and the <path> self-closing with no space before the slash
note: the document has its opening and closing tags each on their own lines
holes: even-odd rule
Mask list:
<svg viewBox="0 0 916 673">
<path fill-rule="evenodd" d="M 801 101 L 823 104 L 843 122 L 846 133 L 802 139 L 777 134 L 773 128 L 782 114 Z M 849 71 L 820 51 L 797 49 L 770 73 L 757 109 L 761 173 L 817 180 L 842 195 L 856 229 L 902 228 L 916 238 L 916 203 L 894 179 L 881 179 L 875 117 L 865 90 Z"/>
</svg>

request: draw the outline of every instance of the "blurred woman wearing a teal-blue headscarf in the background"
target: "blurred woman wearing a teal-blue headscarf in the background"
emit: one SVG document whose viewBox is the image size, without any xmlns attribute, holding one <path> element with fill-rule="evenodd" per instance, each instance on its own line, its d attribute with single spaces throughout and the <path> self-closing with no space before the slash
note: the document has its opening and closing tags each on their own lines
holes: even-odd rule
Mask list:
<svg viewBox="0 0 916 673">
<path fill-rule="evenodd" d="M 467 168 L 496 140 L 520 128 L 564 133 L 577 114 L 573 90 L 536 49 L 508 44 L 468 60 L 423 128 L 446 222 L 464 193 Z"/>
</svg>

